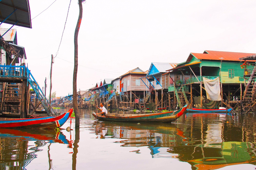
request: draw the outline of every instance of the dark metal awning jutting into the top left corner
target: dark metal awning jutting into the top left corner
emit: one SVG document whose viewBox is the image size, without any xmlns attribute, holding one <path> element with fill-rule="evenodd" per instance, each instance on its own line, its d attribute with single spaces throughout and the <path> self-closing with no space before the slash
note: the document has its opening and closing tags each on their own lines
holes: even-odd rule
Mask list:
<svg viewBox="0 0 256 170">
<path fill-rule="evenodd" d="M 0 22 L 32 28 L 28 0 L 0 0 Z"/>
</svg>

